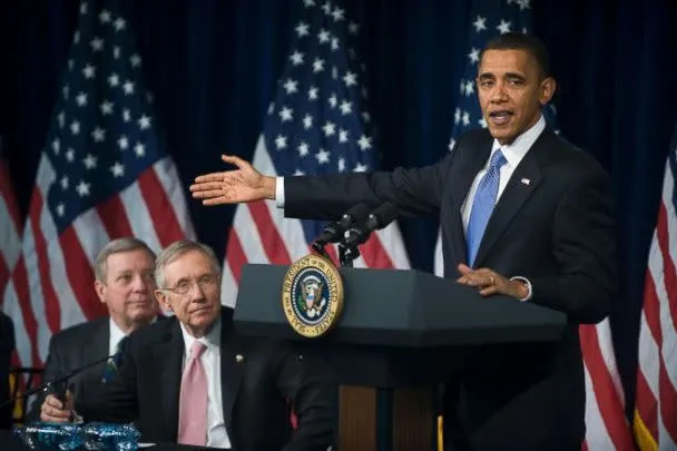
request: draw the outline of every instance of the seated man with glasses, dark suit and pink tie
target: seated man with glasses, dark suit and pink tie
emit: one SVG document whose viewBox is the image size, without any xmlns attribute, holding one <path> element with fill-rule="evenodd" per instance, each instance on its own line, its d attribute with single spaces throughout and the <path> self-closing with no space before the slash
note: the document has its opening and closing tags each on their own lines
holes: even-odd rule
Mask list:
<svg viewBox="0 0 677 451">
<path fill-rule="evenodd" d="M 117 378 L 99 396 L 66 405 L 48 396 L 43 419 L 66 421 L 73 411 L 86 421 L 136 419 L 149 442 L 241 451 L 330 448 L 333 386 L 292 345 L 239 336 L 233 311 L 220 305 L 219 274 L 207 246 L 168 246 L 156 263 L 156 296 L 175 316 L 131 334 Z"/>
</svg>

